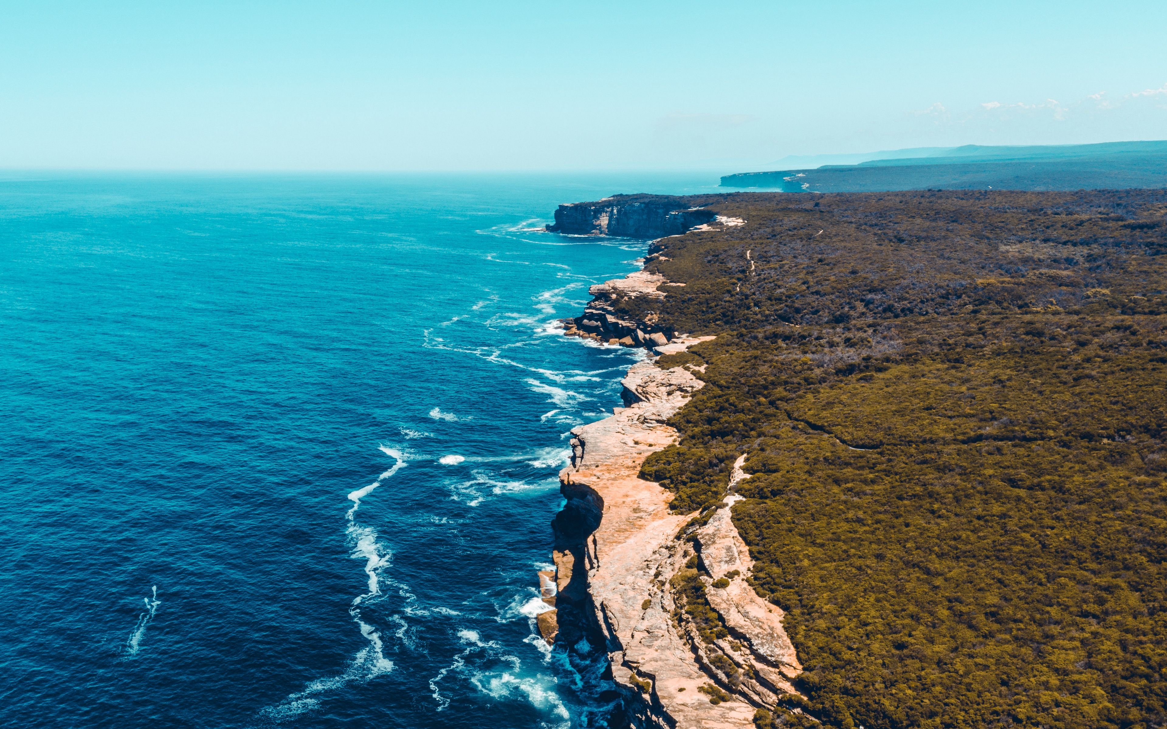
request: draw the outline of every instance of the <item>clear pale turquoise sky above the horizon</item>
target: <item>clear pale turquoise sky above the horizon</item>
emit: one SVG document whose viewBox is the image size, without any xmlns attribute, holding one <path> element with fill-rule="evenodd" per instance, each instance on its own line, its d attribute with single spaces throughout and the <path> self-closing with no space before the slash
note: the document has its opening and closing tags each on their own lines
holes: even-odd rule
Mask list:
<svg viewBox="0 0 1167 729">
<path fill-rule="evenodd" d="M 0 168 L 710 169 L 1167 139 L 1167 2 L 15 2 Z"/>
</svg>

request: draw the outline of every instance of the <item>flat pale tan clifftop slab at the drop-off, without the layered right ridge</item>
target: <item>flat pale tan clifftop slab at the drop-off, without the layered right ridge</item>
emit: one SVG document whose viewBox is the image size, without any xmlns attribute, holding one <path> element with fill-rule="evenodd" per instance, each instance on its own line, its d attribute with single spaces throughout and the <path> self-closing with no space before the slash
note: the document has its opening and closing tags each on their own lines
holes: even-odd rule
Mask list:
<svg viewBox="0 0 1167 729">
<path fill-rule="evenodd" d="M 638 401 L 573 433 L 582 443 L 578 468 L 560 478 L 594 490 L 603 502 L 599 527 L 584 554 L 557 552 L 560 590 L 572 582 L 579 559 L 587 562 L 587 589 L 596 621 L 607 633 L 615 680 L 636 691 L 631 675 L 652 682 L 659 709 L 679 729 L 753 727 L 754 707 L 742 700 L 712 705 L 698 688 L 711 682 L 693 658 L 690 639 L 672 621 L 669 579 L 684 566 L 684 542 L 675 537 L 692 514 L 669 511 L 672 495 L 637 477 L 650 453 L 676 442 L 664 422 L 704 383 L 682 367 L 661 370 L 641 362 L 629 370 L 624 387 Z M 644 608 L 644 601 L 649 607 Z M 684 688 L 685 691 L 678 691 Z"/>
</svg>

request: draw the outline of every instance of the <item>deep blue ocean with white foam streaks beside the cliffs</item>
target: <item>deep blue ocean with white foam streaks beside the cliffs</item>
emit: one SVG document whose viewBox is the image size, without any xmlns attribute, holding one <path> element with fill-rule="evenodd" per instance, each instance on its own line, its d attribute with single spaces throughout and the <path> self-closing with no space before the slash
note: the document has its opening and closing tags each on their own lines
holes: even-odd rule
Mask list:
<svg viewBox="0 0 1167 729">
<path fill-rule="evenodd" d="M 715 183 L 0 178 L 0 724 L 602 724 L 536 570 L 636 355 L 550 324 L 645 244 L 538 226 Z"/>
</svg>

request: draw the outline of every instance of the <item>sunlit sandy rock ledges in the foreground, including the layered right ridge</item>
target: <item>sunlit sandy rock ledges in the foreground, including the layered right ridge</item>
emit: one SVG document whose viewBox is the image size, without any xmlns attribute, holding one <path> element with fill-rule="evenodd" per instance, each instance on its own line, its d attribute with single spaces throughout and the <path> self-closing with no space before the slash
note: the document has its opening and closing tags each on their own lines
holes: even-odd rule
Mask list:
<svg viewBox="0 0 1167 729">
<path fill-rule="evenodd" d="M 684 351 L 707 338 L 669 346 Z M 623 380 L 629 406 L 573 430 L 573 465 L 561 471 L 560 482 L 568 498 L 565 512 L 574 510 L 575 516 L 564 521 L 595 526 L 578 544 L 565 540 L 558 546 L 555 590 L 559 604 L 591 611 L 614 680 L 628 695 L 642 696 L 651 722 L 683 729 L 746 728 L 753 727 L 756 707 L 774 706 L 781 694 L 794 692 L 789 679 L 801 670 L 782 629 L 782 611 L 746 583 L 753 562 L 728 509 L 719 510 L 697 540 L 678 540 L 696 514 L 671 513 L 672 495 L 637 477 L 649 454 L 676 442 L 677 432 L 665 421 L 703 384 L 684 367 L 662 370 L 651 360 L 640 362 Z M 708 589 L 711 604 L 733 631 L 732 639 L 718 646 L 703 645 L 685 624 L 683 605 L 670 587 L 693 556 L 694 545 L 708 553 L 713 579 L 733 569 L 741 575 L 726 589 Z M 550 629 L 554 614 L 544 615 Z M 713 670 L 713 656 L 720 653 L 748 666 L 750 678 L 734 685 Z M 700 691 L 711 685 L 733 693 L 733 700 L 711 703 Z"/>
</svg>

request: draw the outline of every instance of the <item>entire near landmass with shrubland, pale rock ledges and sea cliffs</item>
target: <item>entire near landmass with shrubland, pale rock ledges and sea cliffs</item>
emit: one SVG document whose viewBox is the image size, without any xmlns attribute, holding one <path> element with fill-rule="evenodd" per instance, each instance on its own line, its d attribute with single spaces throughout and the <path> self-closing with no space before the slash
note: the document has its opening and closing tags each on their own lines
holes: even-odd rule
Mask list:
<svg viewBox="0 0 1167 729">
<path fill-rule="evenodd" d="M 562 650 L 637 727 L 1167 721 L 1167 192 L 617 196 Z M 582 639 L 582 640 L 581 640 Z"/>
</svg>

